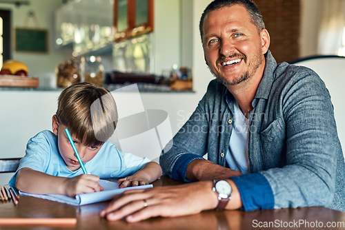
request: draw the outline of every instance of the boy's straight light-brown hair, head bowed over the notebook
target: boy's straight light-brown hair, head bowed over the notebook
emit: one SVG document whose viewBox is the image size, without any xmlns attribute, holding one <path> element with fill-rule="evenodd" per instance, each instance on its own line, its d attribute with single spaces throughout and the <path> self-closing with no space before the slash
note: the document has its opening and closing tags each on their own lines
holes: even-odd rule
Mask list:
<svg viewBox="0 0 345 230">
<path fill-rule="evenodd" d="M 57 105 L 57 121 L 86 145 L 101 145 L 112 136 L 117 106 L 109 90 L 77 83 L 63 90 Z"/>
</svg>

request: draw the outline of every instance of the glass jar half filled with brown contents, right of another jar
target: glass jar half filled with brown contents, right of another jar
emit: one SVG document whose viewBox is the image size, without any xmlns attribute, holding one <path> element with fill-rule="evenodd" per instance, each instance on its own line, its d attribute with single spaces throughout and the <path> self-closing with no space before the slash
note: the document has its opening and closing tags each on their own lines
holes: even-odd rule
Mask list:
<svg viewBox="0 0 345 230">
<path fill-rule="evenodd" d="M 100 56 L 82 57 L 83 81 L 101 86 L 104 83 L 104 67 Z"/>
</svg>

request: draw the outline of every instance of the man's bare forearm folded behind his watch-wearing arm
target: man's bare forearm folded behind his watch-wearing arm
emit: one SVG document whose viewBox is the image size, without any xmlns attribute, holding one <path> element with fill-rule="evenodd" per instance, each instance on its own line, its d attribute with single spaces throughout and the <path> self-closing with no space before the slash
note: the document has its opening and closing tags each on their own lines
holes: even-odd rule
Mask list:
<svg viewBox="0 0 345 230">
<path fill-rule="evenodd" d="M 219 180 L 242 175 L 239 171 L 222 167 L 210 160 L 192 160 L 186 170 L 189 180 Z"/>
</svg>

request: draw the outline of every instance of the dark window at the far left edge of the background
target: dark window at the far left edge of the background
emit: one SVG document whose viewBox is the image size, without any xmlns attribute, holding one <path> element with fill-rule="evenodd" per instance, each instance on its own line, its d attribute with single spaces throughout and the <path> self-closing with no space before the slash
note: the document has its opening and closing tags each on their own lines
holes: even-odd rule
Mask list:
<svg viewBox="0 0 345 230">
<path fill-rule="evenodd" d="M 0 66 L 3 61 L 10 59 L 10 26 L 11 12 L 9 10 L 0 10 Z"/>
</svg>

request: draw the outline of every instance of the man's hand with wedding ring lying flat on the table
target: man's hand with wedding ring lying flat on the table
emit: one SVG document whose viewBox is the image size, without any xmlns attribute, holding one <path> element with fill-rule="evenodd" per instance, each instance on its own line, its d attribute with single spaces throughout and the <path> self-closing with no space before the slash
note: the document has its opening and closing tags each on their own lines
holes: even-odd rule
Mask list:
<svg viewBox="0 0 345 230">
<path fill-rule="evenodd" d="M 155 187 L 125 191 L 115 198 L 100 216 L 108 220 L 138 222 L 155 216 L 174 217 L 200 213 L 217 207 L 213 182 Z"/>
</svg>

